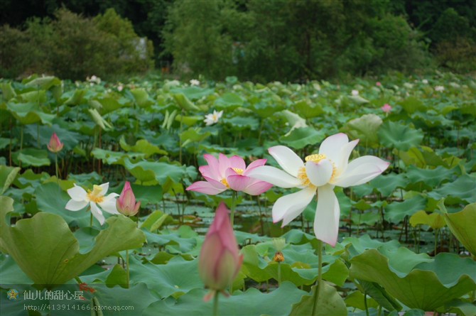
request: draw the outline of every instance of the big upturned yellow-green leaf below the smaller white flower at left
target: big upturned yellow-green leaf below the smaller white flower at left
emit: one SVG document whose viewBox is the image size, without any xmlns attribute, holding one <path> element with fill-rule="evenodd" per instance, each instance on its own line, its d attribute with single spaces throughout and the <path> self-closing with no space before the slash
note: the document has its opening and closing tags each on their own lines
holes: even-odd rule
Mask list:
<svg viewBox="0 0 476 316">
<path fill-rule="evenodd" d="M 142 246 L 145 236 L 136 223 L 123 215 L 109 217 L 107 229 L 95 238 L 91 251 L 80 254 L 80 245 L 63 218 L 39 212 L 21 219 L 15 227 L 6 222 L 13 200 L 0 197 L 0 246 L 36 284 L 51 288 L 65 283 L 114 252 Z"/>
</svg>

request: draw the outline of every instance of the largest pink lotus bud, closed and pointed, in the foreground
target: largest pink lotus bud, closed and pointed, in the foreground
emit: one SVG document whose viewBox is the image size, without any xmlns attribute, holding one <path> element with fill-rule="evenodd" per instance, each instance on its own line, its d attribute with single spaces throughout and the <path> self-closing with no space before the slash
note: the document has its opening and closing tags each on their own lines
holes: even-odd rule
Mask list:
<svg viewBox="0 0 476 316">
<path fill-rule="evenodd" d="M 198 273 L 210 290 L 225 290 L 233 283 L 242 261 L 228 209 L 221 202 L 200 250 Z"/>
</svg>

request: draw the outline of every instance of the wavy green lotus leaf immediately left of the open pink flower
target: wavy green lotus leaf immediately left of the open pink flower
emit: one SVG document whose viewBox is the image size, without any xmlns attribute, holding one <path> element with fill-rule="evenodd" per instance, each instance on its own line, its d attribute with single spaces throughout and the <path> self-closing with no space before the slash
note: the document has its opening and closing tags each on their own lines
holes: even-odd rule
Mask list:
<svg viewBox="0 0 476 316">
<path fill-rule="evenodd" d="M 161 161 L 139 161 L 138 163 L 131 163 L 131 161 L 126 158 L 124 159 L 124 167 L 141 182 L 156 180 L 161 185 L 169 178 L 173 182 L 179 182 L 180 179 L 188 173 L 184 165 L 171 165 L 170 163 Z"/>
</svg>

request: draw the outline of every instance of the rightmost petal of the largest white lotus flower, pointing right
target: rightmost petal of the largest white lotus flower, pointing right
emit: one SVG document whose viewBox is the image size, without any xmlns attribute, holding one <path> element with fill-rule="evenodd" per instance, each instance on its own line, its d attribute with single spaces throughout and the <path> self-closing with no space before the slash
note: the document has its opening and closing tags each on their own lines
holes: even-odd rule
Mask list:
<svg viewBox="0 0 476 316">
<path fill-rule="evenodd" d="M 332 184 L 340 187 L 362 185 L 383 173 L 389 164 L 375 156 L 359 157 L 352 160 L 345 172 L 332 181 Z"/>
</svg>

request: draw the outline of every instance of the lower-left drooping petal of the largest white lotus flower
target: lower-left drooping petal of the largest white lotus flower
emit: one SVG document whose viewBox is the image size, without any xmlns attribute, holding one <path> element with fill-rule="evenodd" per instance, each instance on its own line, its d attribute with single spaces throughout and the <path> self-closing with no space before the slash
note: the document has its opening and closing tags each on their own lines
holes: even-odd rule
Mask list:
<svg viewBox="0 0 476 316">
<path fill-rule="evenodd" d="M 291 222 L 308 206 L 314 194 L 315 188 L 306 187 L 298 192 L 278 198 L 273 205 L 273 222 L 279 222 L 281 219 L 285 219 L 286 224 Z"/>
</svg>

